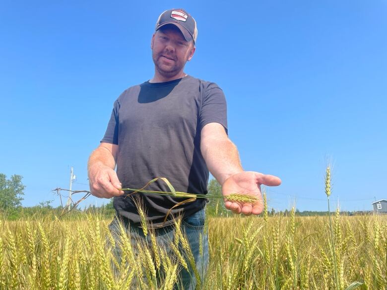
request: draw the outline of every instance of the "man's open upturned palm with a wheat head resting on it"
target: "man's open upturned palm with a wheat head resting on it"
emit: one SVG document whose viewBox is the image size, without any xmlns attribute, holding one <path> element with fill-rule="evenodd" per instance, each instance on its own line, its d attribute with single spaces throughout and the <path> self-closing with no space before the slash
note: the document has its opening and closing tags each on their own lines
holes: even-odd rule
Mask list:
<svg viewBox="0 0 387 290">
<path fill-rule="evenodd" d="M 274 175 L 266 175 L 253 171 L 244 171 L 228 177 L 222 185 L 222 194 L 227 196 L 232 193 L 248 194 L 258 198 L 255 204 L 231 202 L 225 199 L 225 207 L 236 214 L 247 216 L 259 215 L 263 211 L 263 200 L 260 185 L 277 186 L 281 179 Z"/>
</svg>

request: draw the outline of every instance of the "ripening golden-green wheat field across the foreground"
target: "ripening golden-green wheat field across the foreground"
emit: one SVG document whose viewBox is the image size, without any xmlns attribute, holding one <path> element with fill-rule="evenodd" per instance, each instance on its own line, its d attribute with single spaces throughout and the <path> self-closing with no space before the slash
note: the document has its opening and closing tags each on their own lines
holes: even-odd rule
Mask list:
<svg viewBox="0 0 387 290">
<path fill-rule="evenodd" d="M 138 252 L 111 219 L 1 220 L 0 289 L 173 289 L 188 248 Z M 177 227 L 178 227 L 177 223 Z M 386 216 L 208 218 L 210 263 L 199 289 L 387 289 Z M 330 235 L 332 229 L 332 236 Z M 152 235 L 152 231 L 148 231 Z M 333 239 L 331 239 L 333 237 Z M 179 240 L 180 239 L 180 240 Z M 172 243 L 184 243 L 184 233 Z M 332 246 L 333 242 L 333 246 Z M 122 259 L 113 254 L 123 250 Z M 179 247 L 181 249 L 181 247 Z M 195 273 L 193 273 L 194 275 Z M 157 276 L 157 277 L 156 277 Z"/>
</svg>

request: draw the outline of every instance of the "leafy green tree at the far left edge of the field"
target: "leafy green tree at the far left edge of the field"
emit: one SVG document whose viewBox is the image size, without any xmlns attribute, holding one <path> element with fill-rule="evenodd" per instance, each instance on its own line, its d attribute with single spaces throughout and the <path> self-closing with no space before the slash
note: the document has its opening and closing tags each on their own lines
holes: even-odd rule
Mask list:
<svg viewBox="0 0 387 290">
<path fill-rule="evenodd" d="M 21 206 L 25 186 L 21 182 L 23 176 L 14 174 L 7 179 L 0 173 L 0 211 L 12 211 Z"/>
</svg>

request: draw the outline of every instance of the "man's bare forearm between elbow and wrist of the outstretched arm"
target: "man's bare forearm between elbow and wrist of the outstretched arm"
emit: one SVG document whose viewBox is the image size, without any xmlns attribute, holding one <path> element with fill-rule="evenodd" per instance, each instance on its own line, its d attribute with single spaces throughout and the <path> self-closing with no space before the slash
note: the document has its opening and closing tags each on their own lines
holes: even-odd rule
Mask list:
<svg viewBox="0 0 387 290">
<path fill-rule="evenodd" d="M 238 149 L 230 139 L 213 138 L 200 149 L 209 172 L 220 184 L 232 174 L 243 172 Z"/>
</svg>

